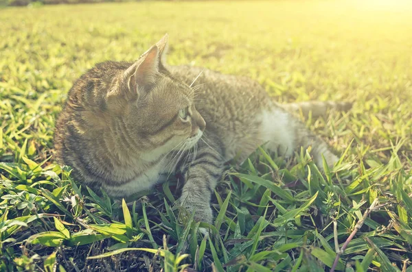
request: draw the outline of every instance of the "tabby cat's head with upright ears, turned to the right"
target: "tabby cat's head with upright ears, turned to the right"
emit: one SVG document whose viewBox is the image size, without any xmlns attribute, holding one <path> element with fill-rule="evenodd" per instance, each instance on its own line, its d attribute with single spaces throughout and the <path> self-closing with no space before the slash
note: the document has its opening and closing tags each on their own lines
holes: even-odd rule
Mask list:
<svg viewBox="0 0 412 272">
<path fill-rule="evenodd" d="M 166 34 L 124 70 L 107 96 L 109 109 L 121 108 L 124 137 L 131 137 L 130 144 L 139 145 L 148 160 L 190 149 L 206 125 L 194 106 L 194 90 L 165 69 L 167 39 Z"/>
</svg>

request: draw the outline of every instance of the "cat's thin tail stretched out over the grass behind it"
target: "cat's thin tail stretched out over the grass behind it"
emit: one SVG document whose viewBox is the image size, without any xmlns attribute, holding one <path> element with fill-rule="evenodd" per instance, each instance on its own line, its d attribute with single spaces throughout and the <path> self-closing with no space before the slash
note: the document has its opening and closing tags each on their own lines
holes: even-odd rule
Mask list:
<svg viewBox="0 0 412 272">
<path fill-rule="evenodd" d="M 320 116 L 325 117 L 328 110 L 338 110 L 340 112 L 347 112 L 352 108 L 351 102 L 334 102 L 334 101 L 306 101 L 297 103 L 279 104 L 284 110 L 293 114 L 303 114 L 308 118 L 312 114 L 312 118 Z"/>
</svg>

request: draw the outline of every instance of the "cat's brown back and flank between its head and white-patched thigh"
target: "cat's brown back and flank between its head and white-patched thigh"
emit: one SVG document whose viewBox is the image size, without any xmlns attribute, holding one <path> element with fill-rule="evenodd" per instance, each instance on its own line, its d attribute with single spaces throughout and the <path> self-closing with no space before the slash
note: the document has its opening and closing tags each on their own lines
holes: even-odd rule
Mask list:
<svg viewBox="0 0 412 272">
<path fill-rule="evenodd" d="M 194 88 L 196 109 L 206 122 L 205 136 L 218 136 L 227 160 L 236 156 L 240 147 L 249 154 L 260 145 L 259 116 L 274 103 L 258 82 L 194 66 L 172 66 L 169 70 Z"/>
</svg>

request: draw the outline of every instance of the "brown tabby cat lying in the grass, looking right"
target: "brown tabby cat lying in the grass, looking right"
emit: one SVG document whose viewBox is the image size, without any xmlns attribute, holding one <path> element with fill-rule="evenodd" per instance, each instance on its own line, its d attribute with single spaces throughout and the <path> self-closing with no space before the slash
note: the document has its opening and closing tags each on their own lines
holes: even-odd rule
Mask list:
<svg viewBox="0 0 412 272">
<path fill-rule="evenodd" d="M 278 104 L 257 82 L 194 66 L 168 66 L 166 34 L 136 62 L 103 62 L 69 90 L 56 122 L 56 160 L 76 180 L 128 197 L 176 171 L 185 183 L 179 205 L 213 222 L 211 195 L 225 163 L 257 147 L 289 157 L 312 147 L 314 162 L 338 157 L 292 112 L 325 114 L 350 103 Z M 194 85 L 194 86 L 193 86 Z"/>
</svg>

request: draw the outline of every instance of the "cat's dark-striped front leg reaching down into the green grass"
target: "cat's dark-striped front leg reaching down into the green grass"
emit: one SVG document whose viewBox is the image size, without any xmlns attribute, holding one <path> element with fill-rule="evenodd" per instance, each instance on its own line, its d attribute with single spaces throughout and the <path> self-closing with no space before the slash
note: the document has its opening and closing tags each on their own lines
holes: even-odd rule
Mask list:
<svg viewBox="0 0 412 272">
<path fill-rule="evenodd" d="M 213 223 L 210 200 L 223 169 L 224 160 L 218 145 L 201 140 L 196 157 L 184 166 L 185 184 L 179 199 L 187 212 L 195 212 L 196 221 Z"/>
</svg>

